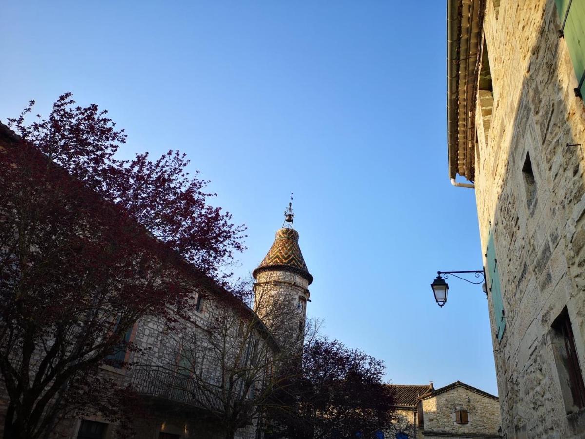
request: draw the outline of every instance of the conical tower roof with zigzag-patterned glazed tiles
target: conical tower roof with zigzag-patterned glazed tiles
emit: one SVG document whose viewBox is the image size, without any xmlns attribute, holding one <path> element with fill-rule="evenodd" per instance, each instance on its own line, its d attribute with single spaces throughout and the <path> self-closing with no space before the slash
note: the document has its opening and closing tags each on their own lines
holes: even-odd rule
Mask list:
<svg viewBox="0 0 585 439">
<path fill-rule="evenodd" d="M 313 276 L 307 270 L 307 264 L 298 246 L 298 232 L 293 228 L 281 228 L 276 232 L 276 239 L 252 276 L 267 270 L 286 270 L 301 275 L 313 282 Z"/>
</svg>

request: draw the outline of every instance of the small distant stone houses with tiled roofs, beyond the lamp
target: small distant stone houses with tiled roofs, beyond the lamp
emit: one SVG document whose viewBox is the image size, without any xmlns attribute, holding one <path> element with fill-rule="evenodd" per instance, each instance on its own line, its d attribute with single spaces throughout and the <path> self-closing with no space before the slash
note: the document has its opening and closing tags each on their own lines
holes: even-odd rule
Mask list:
<svg viewBox="0 0 585 439">
<path fill-rule="evenodd" d="M 500 438 L 498 397 L 460 381 L 430 385 L 391 385 L 397 420 L 390 439 Z"/>
</svg>

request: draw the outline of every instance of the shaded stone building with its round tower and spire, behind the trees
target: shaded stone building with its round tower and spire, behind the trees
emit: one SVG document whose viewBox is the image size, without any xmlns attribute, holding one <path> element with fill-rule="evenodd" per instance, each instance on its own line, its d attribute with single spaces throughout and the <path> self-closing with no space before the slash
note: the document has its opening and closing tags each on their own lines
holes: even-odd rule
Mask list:
<svg viewBox="0 0 585 439">
<path fill-rule="evenodd" d="M 0 149 L 15 142 L 15 135 L 0 124 Z M 292 219 L 291 209 L 288 218 Z M 236 407 L 243 416 L 235 438 L 261 437 L 263 413 L 254 406 L 254 397 L 270 382 L 270 374 L 280 361 L 297 355 L 302 347 L 308 286 L 313 280 L 298 245 L 298 232 L 292 221 L 285 224 L 254 270 L 254 309 L 192 270 L 190 282 L 197 288 L 191 320 L 173 323 L 175 331 L 171 331 L 164 321 L 143 318 L 125 336 L 141 349 L 115 352 L 108 359 L 111 365 L 101 366 L 104 376 L 129 386 L 137 395 L 140 407 L 132 420 L 135 437 L 224 438 L 226 413 L 233 413 Z M 125 363 L 132 367 L 126 368 Z M 0 435 L 7 405 L 4 383 L 0 382 Z M 115 424 L 94 414 L 61 421 L 51 437 L 121 436 Z"/>
</svg>

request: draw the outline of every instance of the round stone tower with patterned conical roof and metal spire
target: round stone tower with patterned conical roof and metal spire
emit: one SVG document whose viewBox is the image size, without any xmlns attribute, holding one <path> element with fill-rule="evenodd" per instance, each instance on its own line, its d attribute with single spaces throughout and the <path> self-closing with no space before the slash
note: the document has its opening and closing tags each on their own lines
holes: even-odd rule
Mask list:
<svg viewBox="0 0 585 439">
<path fill-rule="evenodd" d="M 252 272 L 256 279 L 254 311 L 283 348 L 302 345 L 308 286 L 313 282 L 298 246 L 293 216 L 289 203 L 283 228 L 276 232 L 266 257 Z"/>
</svg>

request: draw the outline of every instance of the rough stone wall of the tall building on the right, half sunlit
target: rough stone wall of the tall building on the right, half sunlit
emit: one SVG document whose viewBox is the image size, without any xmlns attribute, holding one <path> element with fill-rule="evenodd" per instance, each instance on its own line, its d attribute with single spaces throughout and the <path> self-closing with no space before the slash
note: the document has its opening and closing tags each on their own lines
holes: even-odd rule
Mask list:
<svg viewBox="0 0 585 439">
<path fill-rule="evenodd" d="M 551 327 L 566 306 L 583 374 L 585 108 L 555 1 L 501 2 L 498 14 L 486 5 L 494 103 L 489 124 L 476 112 L 475 183 L 481 251 L 491 227 L 506 319 L 501 341 L 493 331 L 503 428 L 508 438 L 584 437 L 582 413 L 567 414 Z"/>
</svg>

